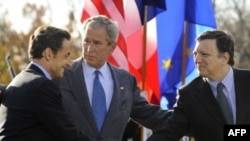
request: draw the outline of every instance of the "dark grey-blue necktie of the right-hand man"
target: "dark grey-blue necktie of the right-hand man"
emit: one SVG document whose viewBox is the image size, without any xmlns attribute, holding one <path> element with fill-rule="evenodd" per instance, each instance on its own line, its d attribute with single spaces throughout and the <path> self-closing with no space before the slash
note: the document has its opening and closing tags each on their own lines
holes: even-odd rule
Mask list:
<svg viewBox="0 0 250 141">
<path fill-rule="evenodd" d="M 227 101 L 227 98 L 223 92 L 224 85 L 222 83 L 219 83 L 217 85 L 217 101 L 220 105 L 220 108 L 222 110 L 222 113 L 227 121 L 228 124 L 233 124 L 233 114 L 232 110 L 230 108 L 230 105 Z"/>
</svg>

